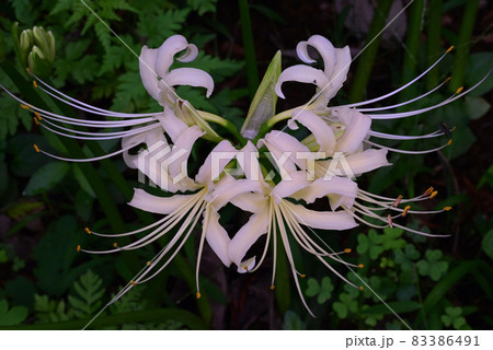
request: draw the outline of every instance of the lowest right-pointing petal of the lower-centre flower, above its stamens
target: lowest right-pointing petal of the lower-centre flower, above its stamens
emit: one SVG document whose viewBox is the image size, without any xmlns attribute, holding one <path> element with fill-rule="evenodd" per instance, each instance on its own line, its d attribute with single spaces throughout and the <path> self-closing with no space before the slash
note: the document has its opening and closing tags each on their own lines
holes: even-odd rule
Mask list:
<svg viewBox="0 0 493 350">
<path fill-rule="evenodd" d="M 312 229 L 348 230 L 357 226 L 354 218 L 346 211 L 314 211 L 286 200 L 283 203 L 293 211 L 300 224 Z"/>
</svg>

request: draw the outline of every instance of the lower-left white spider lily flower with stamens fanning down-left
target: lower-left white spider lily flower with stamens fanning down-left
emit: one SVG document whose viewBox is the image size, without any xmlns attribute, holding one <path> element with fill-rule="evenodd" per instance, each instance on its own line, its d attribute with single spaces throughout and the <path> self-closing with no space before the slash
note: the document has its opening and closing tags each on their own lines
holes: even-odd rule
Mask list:
<svg viewBox="0 0 493 350">
<path fill-rule="evenodd" d="M 188 130 L 192 128 L 188 128 Z M 186 130 L 184 132 L 186 132 Z M 221 161 L 218 163 L 213 161 L 215 152 L 222 154 Z M 195 190 L 194 194 L 159 197 L 150 195 L 142 189 L 135 189 L 134 197 L 128 205 L 144 211 L 165 215 L 154 223 L 136 231 L 119 234 L 103 234 L 87 229 L 88 233 L 103 237 L 122 237 L 147 232 L 141 238 L 122 247 L 115 243 L 114 248 L 107 250 L 90 250 L 83 249 L 80 246 L 78 247 L 78 250 L 91 254 L 108 254 L 138 249 L 167 234 L 169 235 L 170 231 L 177 230 L 171 241 L 147 262 L 145 269 L 142 269 L 142 271 L 123 291 L 125 293 L 134 285 L 147 282 L 162 271 L 182 248 L 183 244 L 197 225 L 198 220 L 203 217 L 196 265 L 197 298 L 200 298 L 198 272 L 205 241 L 207 241 L 210 248 L 216 253 L 225 266 L 230 266 L 231 264 L 228 253 L 230 238 L 226 230 L 219 224 L 220 215 L 217 211 L 230 198 L 239 196 L 243 191 L 250 192 L 260 190 L 259 184 L 250 183 L 244 187 L 242 185 L 231 184 L 231 182 L 237 180 L 233 180 L 229 176 L 222 176 L 219 180 L 217 180 L 217 177 L 214 178 L 214 171 L 217 171 L 218 174 L 222 174 L 223 168 L 236 154 L 237 150 L 229 141 L 223 140 L 219 142 L 203 163 L 195 178 L 191 179 L 187 177 L 190 182 L 193 182 L 193 186 L 190 190 Z M 218 168 L 215 170 L 213 164 L 217 165 Z M 241 182 L 238 183 L 241 184 Z"/>
</svg>

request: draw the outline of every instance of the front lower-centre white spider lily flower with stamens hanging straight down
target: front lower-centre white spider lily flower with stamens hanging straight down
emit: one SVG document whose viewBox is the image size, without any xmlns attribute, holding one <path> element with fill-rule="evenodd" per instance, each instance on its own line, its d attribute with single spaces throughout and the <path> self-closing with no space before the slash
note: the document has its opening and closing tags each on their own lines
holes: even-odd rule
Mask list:
<svg viewBox="0 0 493 350">
<path fill-rule="evenodd" d="M 263 144 L 268 144 L 268 142 L 264 142 Z M 307 180 L 307 174 L 305 171 L 293 172 L 289 174 L 288 178 L 282 179 L 277 185 L 274 185 L 265 182 L 262 174 L 259 174 L 261 170 L 259 161 L 256 156 L 251 156 L 251 154 L 257 153 L 257 149 L 253 145 L 253 143 L 249 141 L 239 152 L 242 152 L 244 154 L 244 159 L 250 161 L 240 164 L 246 178 L 243 180 L 236 180 L 234 186 L 241 187 L 241 189 L 237 189 L 238 194 L 230 199 L 230 202 L 242 210 L 250 211 L 252 215 L 249 221 L 234 234 L 229 244 L 228 254 L 230 260 L 238 266 L 238 272 L 243 273 L 256 270 L 263 262 L 268 244 L 272 240 L 274 245 L 272 288 L 274 288 L 278 230 L 284 250 L 295 278 L 296 287 L 307 310 L 309 310 L 309 307 L 305 302 L 298 281 L 298 276 L 303 277 L 303 275 L 299 273 L 296 269 L 291 248 L 289 246 L 289 233 L 305 250 L 313 254 L 343 280 L 354 285 L 324 259 L 331 258 L 345 265 L 351 265 L 340 258 L 340 255 L 344 252 L 326 252 L 313 241 L 305 229 L 301 228 L 301 225 L 307 226 L 310 231 L 312 231 L 312 229 L 347 230 L 357 225 L 353 215 L 344 210 L 314 211 L 305 208 L 302 205 L 297 205 L 287 200 L 289 197 L 296 197 L 297 199 L 305 200 L 309 196 L 320 198 L 329 195 L 330 192 L 339 194 L 340 189 L 344 187 L 340 186 L 342 183 L 352 182 L 346 178 L 339 178 L 339 186 L 337 184 L 334 184 L 334 186 L 320 186 L 317 194 L 311 191 L 306 196 L 303 188 L 309 186 L 310 183 Z M 290 161 L 288 160 L 288 162 Z M 256 183 L 257 186 L 256 184 L 252 185 L 249 183 Z M 349 186 L 354 187 L 355 184 L 353 183 Z M 215 189 L 215 191 L 211 192 L 211 196 L 219 191 L 219 188 Z M 354 195 L 356 196 L 356 191 L 354 191 Z M 250 247 L 264 234 L 266 234 L 265 248 L 259 264 L 256 264 L 255 257 L 245 258 L 245 254 Z"/>
</svg>

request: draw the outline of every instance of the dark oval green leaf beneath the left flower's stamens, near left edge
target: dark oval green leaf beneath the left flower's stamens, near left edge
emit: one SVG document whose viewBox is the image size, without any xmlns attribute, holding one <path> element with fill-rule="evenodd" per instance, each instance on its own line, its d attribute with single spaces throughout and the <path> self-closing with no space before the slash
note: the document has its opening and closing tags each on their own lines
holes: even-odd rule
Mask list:
<svg viewBox="0 0 493 350">
<path fill-rule="evenodd" d="M 31 177 L 24 194 L 34 196 L 46 192 L 64 179 L 69 168 L 70 164 L 65 162 L 51 162 L 44 165 Z"/>
</svg>

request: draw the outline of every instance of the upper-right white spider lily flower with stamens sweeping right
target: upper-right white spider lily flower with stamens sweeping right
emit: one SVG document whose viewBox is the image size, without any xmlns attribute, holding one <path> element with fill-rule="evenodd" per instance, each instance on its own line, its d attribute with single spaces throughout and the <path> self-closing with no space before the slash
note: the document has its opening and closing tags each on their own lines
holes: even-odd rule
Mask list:
<svg viewBox="0 0 493 350">
<path fill-rule="evenodd" d="M 382 107 L 366 107 L 367 105 L 383 101 L 388 97 L 394 96 L 395 94 L 400 93 L 408 86 L 414 84 L 417 82 L 421 78 L 423 78 L 427 72 L 429 72 L 438 62 L 440 62 L 444 57 L 452 49 L 450 47 L 442 57 L 439 57 L 435 63 L 433 63 L 428 69 L 426 69 L 423 73 L 421 73 L 419 77 L 410 81 L 409 83 L 402 85 L 401 88 L 383 95 L 380 97 L 371 98 L 368 101 L 359 102 L 359 103 L 353 103 L 342 106 L 328 106 L 331 98 L 335 96 L 337 91 L 342 88 L 344 81 L 346 80 L 346 75 L 349 69 L 349 65 L 352 62 L 351 60 L 351 54 L 347 47 L 344 47 L 342 49 L 334 48 L 333 45 L 325 38 L 323 38 L 320 35 L 313 35 L 311 36 L 307 42 L 300 42 L 297 46 L 297 54 L 298 57 L 305 62 L 305 63 L 312 63 L 314 60 L 309 56 L 308 54 L 308 47 L 311 46 L 314 48 L 319 55 L 321 56 L 324 65 L 323 71 L 320 69 L 316 69 L 306 65 L 298 65 L 294 67 L 289 67 L 286 70 L 284 70 L 279 79 L 277 81 L 275 92 L 276 94 L 285 98 L 285 95 L 282 91 L 282 85 L 286 81 L 297 81 L 302 83 L 312 83 L 317 85 L 317 93 L 314 96 L 303 106 L 299 108 L 295 108 L 289 112 L 285 112 L 282 114 L 278 114 L 274 116 L 270 121 L 267 121 L 268 125 L 274 125 L 275 122 L 286 119 L 286 118 L 293 118 L 295 120 L 298 119 L 300 112 L 299 110 L 310 110 L 321 118 L 323 118 L 331 127 L 337 128 L 342 126 L 342 129 L 340 129 L 340 136 L 342 136 L 342 142 L 340 145 L 340 149 L 336 151 L 342 151 L 346 154 L 353 153 L 355 151 L 362 151 L 365 148 L 368 147 L 375 147 L 378 149 L 385 149 L 392 152 L 399 152 L 404 154 L 424 154 L 429 152 L 438 151 L 447 145 L 450 144 L 451 140 L 448 140 L 445 144 L 429 149 L 429 150 L 423 150 L 423 151 L 406 151 L 406 150 L 400 150 L 400 149 L 393 149 L 386 145 L 381 145 L 378 142 L 370 141 L 369 138 L 380 138 L 380 139 L 389 139 L 389 140 L 420 140 L 420 139 L 428 139 L 428 138 L 437 138 L 447 136 L 449 137 L 450 132 L 448 129 L 440 129 L 435 132 L 431 132 L 427 135 L 421 135 L 421 136 L 402 136 L 402 135 L 392 135 L 392 133 L 385 133 L 385 132 L 378 132 L 369 129 L 369 126 L 371 125 L 371 120 L 388 120 L 388 119 L 397 119 L 397 118 L 406 118 L 416 116 L 436 108 L 439 108 L 446 104 L 449 104 L 470 91 L 474 90 L 478 85 L 480 85 L 489 75 L 488 73 L 481 81 L 479 81 L 477 84 L 474 84 L 472 88 L 468 90 L 463 90 L 462 88 L 458 89 L 457 92 L 450 96 L 449 98 L 437 103 L 433 106 L 414 109 L 410 112 L 402 112 L 402 113 L 381 113 L 389 109 L 395 109 L 401 106 L 411 104 L 413 102 L 416 102 L 433 92 L 437 91 L 439 88 L 442 88 L 449 79 L 445 80 L 440 84 L 438 84 L 436 88 L 432 89 L 431 91 L 424 93 L 421 96 L 417 96 L 415 98 L 412 98 L 410 101 L 405 101 L 403 103 L 389 105 L 389 106 L 382 106 Z M 347 112 L 352 110 L 352 112 Z M 351 117 L 351 114 L 353 114 L 353 117 Z M 357 116 L 356 119 L 354 117 Z M 364 116 L 364 118 L 362 117 Z M 352 121 L 353 120 L 353 121 Z M 356 125 L 348 128 L 351 122 L 355 122 Z M 345 128 L 345 130 L 344 130 Z M 348 129 L 351 130 L 357 130 L 354 131 L 355 135 L 352 137 L 344 136 L 344 133 L 347 133 Z M 364 130 L 367 129 L 366 135 L 364 133 Z M 337 132 L 336 132 L 337 133 Z M 356 137 L 357 136 L 357 137 Z M 353 142 L 353 140 L 362 139 L 362 142 L 364 143 L 364 148 L 362 149 L 360 145 L 358 145 L 358 142 Z M 349 142 L 349 140 L 352 142 Z M 310 141 L 313 147 L 313 140 L 309 139 L 307 141 Z M 307 142 L 305 142 L 307 143 Z M 310 149 L 312 148 L 310 147 Z"/>
</svg>

